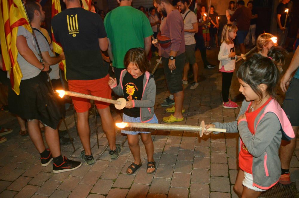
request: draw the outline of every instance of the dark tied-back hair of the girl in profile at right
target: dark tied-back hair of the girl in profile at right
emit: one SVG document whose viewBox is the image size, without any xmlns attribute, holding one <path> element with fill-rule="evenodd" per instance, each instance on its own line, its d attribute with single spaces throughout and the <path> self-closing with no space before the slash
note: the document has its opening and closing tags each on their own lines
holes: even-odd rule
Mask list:
<svg viewBox="0 0 299 198">
<path fill-rule="evenodd" d="M 269 57 L 254 54 L 239 67 L 237 77 L 248 84 L 260 99 L 263 99 L 263 93 L 258 87 L 260 84 L 267 85 L 266 92 L 273 98 L 276 97 L 279 71 Z"/>
</svg>

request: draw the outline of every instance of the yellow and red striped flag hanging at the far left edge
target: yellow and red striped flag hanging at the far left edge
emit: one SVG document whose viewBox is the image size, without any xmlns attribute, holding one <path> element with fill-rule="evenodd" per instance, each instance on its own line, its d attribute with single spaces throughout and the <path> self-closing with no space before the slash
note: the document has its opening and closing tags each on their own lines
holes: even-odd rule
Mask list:
<svg viewBox="0 0 299 198">
<path fill-rule="evenodd" d="M 16 39 L 19 26 L 24 26 L 32 33 L 22 1 L 0 0 L 0 42 L 3 70 L 8 71 L 11 87 L 17 95 L 20 94 L 19 87 L 23 77 L 17 62 Z"/>
</svg>

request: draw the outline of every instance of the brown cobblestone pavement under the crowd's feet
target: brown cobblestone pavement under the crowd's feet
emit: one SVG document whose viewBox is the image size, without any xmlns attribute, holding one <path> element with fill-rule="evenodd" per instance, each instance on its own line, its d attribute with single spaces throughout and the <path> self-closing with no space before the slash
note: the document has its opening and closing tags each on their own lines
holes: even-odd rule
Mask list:
<svg viewBox="0 0 299 198">
<path fill-rule="evenodd" d="M 199 86 L 190 90 L 185 87 L 184 121 L 176 124 L 199 125 L 213 121 L 234 121 L 239 108 L 224 109 L 221 102 L 221 74 L 218 72 L 218 50 L 208 51 L 208 58 L 216 68 L 203 68 L 200 54 Z M 156 59 L 156 58 L 155 58 Z M 153 59 L 153 60 L 155 60 Z M 290 62 L 290 58 L 287 61 Z M 153 63 L 154 64 L 154 63 Z M 192 72 L 191 72 L 192 73 Z M 188 81 L 192 81 L 192 78 Z M 161 66 L 155 74 L 157 95 L 155 113 L 161 122 L 165 107 L 159 104 L 168 96 Z M 243 97 L 239 95 L 239 85 L 234 77 L 230 95 L 238 104 Z M 283 95 L 280 95 L 280 98 Z M 281 101 L 281 99 L 280 99 Z M 120 116 L 112 110 L 115 121 Z M 40 166 L 39 153 L 28 136 L 18 134 L 16 118 L 10 113 L 0 113 L 0 125 L 13 128 L 7 135 L 7 142 L 0 144 L 0 197 L 1 198 L 229 198 L 237 197 L 232 188 L 237 175 L 237 138 L 238 134 L 209 135 L 199 138 L 190 131 L 158 131 L 152 134 L 154 159 L 157 170 L 146 173 L 146 153 L 140 141 L 143 166 L 133 175 L 126 174 L 126 168 L 134 161 L 128 147 L 126 136 L 118 131 L 116 141 L 123 145 L 117 160 L 109 158 L 109 147 L 98 119 L 99 148 L 95 133 L 94 117 L 90 116 L 92 153 L 97 159 L 93 166 L 83 164 L 72 172 L 52 173 L 51 164 Z M 77 137 L 72 111 L 67 112 L 66 122 L 74 138 L 76 151 L 71 145 L 61 146 L 62 154 L 80 160 L 82 145 Z M 60 129 L 64 129 L 63 124 Z M 291 161 L 292 181 L 299 186 L 299 139 Z"/>
</svg>

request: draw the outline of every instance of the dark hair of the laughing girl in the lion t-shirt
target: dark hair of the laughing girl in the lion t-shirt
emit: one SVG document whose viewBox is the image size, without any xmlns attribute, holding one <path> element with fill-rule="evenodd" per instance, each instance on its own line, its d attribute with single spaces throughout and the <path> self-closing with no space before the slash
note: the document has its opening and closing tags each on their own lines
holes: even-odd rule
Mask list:
<svg viewBox="0 0 299 198">
<path fill-rule="evenodd" d="M 140 47 L 129 49 L 125 55 L 123 63 L 126 68 L 130 63 L 136 65 L 142 73 L 145 73 L 150 66 L 145 50 Z"/>
</svg>

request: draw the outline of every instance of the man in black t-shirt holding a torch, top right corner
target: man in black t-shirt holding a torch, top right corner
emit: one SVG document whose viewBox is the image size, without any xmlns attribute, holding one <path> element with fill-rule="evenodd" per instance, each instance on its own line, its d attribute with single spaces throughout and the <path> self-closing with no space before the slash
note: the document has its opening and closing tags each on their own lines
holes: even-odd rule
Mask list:
<svg viewBox="0 0 299 198">
<path fill-rule="evenodd" d="M 277 17 L 277 34 L 278 34 L 278 45 L 283 46 L 286 42 L 286 36 L 288 35 L 289 30 L 289 19 L 286 21 L 287 13 L 285 10 L 288 8 L 288 3 L 290 0 L 282 0 L 276 9 Z M 284 24 L 286 21 L 286 28 L 284 28 Z"/>
</svg>

